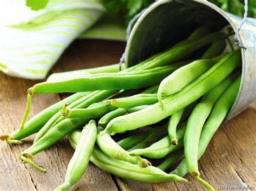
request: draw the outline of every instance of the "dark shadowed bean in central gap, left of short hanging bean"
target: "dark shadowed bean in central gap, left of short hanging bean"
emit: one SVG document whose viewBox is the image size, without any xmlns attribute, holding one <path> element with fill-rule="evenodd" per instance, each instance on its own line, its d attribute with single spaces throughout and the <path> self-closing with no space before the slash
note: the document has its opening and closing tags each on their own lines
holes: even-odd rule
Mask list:
<svg viewBox="0 0 256 191">
<path fill-rule="evenodd" d="M 159 139 L 163 138 L 167 134 L 167 124 L 163 124 L 159 127 L 153 128 L 149 135 L 142 140 L 142 142 L 138 143 L 137 145 L 131 147 L 128 151 L 135 150 L 137 148 L 145 148 L 150 146 L 154 142 L 157 142 Z"/>
</svg>

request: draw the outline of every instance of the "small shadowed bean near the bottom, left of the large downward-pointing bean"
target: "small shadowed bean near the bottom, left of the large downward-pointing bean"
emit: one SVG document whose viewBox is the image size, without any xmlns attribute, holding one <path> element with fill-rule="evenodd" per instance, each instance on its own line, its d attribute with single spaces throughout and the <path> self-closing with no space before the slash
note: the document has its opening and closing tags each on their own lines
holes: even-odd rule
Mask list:
<svg viewBox="0 0 256 191">
<path fill-rule="evenodd" d="M 174 152 L 169 158 L 164 160 L 160 165 L 157 167 L 160 168 L 162 171 L 165 171 L 170 166 L 174 165 L 177 161 L 184 157 L 184 149 L 179 148 L 176 152 Z"/>
</svg>

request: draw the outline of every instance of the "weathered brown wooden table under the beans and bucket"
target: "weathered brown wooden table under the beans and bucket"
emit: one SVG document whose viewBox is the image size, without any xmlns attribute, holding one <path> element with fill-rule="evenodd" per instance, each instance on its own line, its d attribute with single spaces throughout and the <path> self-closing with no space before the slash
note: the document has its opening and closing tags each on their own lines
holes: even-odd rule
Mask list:
<svg viewBox="0 0 256 191">
<path fill-rule="evenodd" d="M 125 44 L 110 41 L 79 40 L 62 55 L 53 72 L 90 68 L 117 63 Z M 0 73 L 0 134 L 18 128 L 25 104 L 26 89 L 39 81 L 17 79 Z M 62 95 L 35 96 L 29 117 L 51 104 Z M 227 122 L 199 160 L 202 178 L 214 188 L 219 186 L 256 187 L 256 105 Z M 43 174 L 28 164 L 21 164 L 18 154 L 32 144 L 34 136 L 24 139 L 22 145 L 0 142 L 0 190 L 53 190 L 64 181 L 66 167 L 73 150 L 68 139 L 35 156 L 36 164 L 47 169 Z M 142 183 L 117 178 L 90 164 L 83 178 L 72 190 L 187 190 L 204 189 L 190 175 L 190 182 Z"/>
</svg>

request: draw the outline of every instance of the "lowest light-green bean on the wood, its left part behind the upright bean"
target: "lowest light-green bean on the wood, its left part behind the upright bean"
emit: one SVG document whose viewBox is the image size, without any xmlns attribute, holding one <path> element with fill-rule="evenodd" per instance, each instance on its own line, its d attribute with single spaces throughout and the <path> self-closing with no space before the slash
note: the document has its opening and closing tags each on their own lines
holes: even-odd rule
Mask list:
<svg viewBox="0 0 256 191">
<path fill-rule="evenodd" d="M 70 143 L 74 149 L 80 138 L 79 131 L 72 132 L 70 135 Z M 103 171 L 109 172 L 120 178 L 131 179 L 142 182 L 163 182 L 163 181 L 184 181 L 179 176 L 166 176 L 164 171 L 154 167 L 140 168 L 138 165 L 131 164 L 121 160 L 110 158 L 95 146 L 90 161 Z"/>
</svg>

